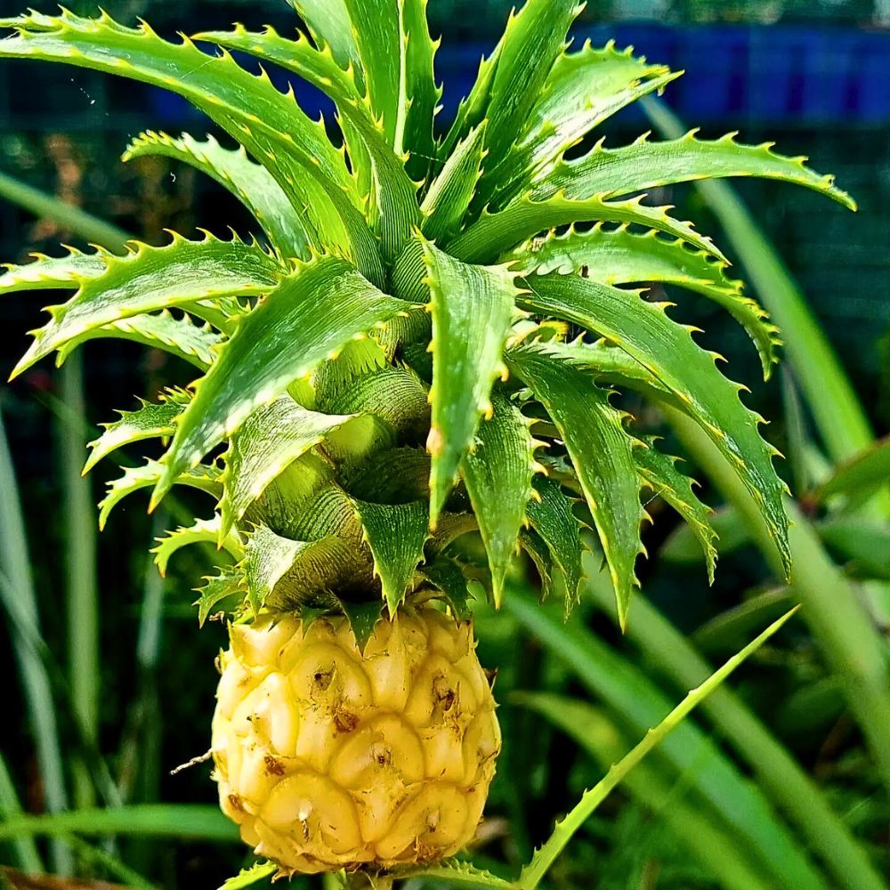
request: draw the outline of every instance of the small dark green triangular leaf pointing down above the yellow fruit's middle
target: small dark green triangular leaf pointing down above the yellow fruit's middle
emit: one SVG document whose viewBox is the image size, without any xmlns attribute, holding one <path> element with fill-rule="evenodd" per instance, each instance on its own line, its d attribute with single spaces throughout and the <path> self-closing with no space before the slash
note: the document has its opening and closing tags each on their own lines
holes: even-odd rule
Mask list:
<svg viewBox="0 0 890 890">
<path fill-rule="evenodd" d="M 417 564 L 424 558 L 428 535 L 425 501 L 409 504 L 370 504 L 353 501 L 364 538 L 374 556 L 390 617 L 409 591 Z"/>
</svg>

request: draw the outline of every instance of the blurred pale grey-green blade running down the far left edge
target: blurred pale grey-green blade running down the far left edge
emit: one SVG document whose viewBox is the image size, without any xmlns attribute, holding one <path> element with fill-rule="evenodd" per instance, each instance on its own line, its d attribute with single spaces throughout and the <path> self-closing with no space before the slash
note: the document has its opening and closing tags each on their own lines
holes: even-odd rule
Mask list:
<svg viewBox="0 0 890 890">
<path fill-rule="evenodd" d="M 40 638 L 40 619 L 37 598 L 28 562 L 28 542 L 21 512 L 19 490 L 12 467 L 12 456 L 6 441 L 3 417 L 0 414 L 0 570 L 9 581 L 9 588 L 0 585 L 0 595 L 12 591 L 14 602 L 10 611 L 20 617 L 37 638 Z M 62 769 L 59 732 L 56 725 L 55 703 L 44 664 L 20 634 L 13 633 L 12 649 L 19 665 L 21 683 L 28 708 L 31 731 L 34 733 L 37 765 L 44 785 L 46 809 L 59 813 L 68 806 L 65 776 Z M 61 841 L 53 843 L 53 871 L 68 875 L 73 867 L 70 850 Z"/>
</svg>

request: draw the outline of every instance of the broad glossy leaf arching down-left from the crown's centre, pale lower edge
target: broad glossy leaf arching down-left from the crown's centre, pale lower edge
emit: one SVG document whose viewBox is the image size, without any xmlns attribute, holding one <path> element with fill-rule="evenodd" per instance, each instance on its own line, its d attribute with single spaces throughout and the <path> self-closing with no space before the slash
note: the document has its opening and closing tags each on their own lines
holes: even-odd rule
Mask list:
<svg viewBox="0 0 890 890">
<path fill-rule="evenodd" d="M 197 384 L 164 457 L 153 503 L 176 476 L 235 433 L 257 408 L 312 374 L 354 337 L 412 308 L 377 290 L 351 263 L 320 256 L 299 263 L 239 324 Z"/>
</svg>

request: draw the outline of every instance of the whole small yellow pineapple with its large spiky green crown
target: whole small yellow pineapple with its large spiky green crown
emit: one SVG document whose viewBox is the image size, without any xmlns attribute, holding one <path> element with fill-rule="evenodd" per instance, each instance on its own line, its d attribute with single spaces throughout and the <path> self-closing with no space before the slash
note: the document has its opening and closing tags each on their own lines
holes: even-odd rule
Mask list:
<svg viewBox="0 0 890 890">
<path fill-rule="evenodd" d="M 87 469 L 137 441 L 164 449 L 110 484 L 100 522 L 138 490 L 152 490 L 151 507 L 176 485 L 210 496 L 156 553 L 163 572 L 182 546 L 219 547 L 197 605 L 201 623 L 224 617 L 231 634 L 213 723 L 223 810 L 282 873 L 379 871 L 473 837 L 500 739 L 472 604 L 501 602 L 518 550 L 569 610 L 589 527 L 623 624 L 643 500 L 659 496 L 713 573 L 708 509 L 615 391 L 700 425 L 788 567 L 762 418 L 641 288 L 724 306 L 765 376 L 778 333 L 714 243 L 644 192 L 752 175 L 853 202 L 804 158 L 734 134 L 600 140 L 567 159 L 676 77 L 613 44 L 571 50 L 573 2 L 511 14 L 444 132 L 426 0 L 291 3 L 305 33 L 194 36 L 213 51 L 104 12 L 0 21 L 12 31 L 0 56 L 131 77 L 206 112 L 237 148 L 148 132 L 124 158 L 196 167 L 257 223 L 249 239 L 202 230 L 123 255 L 39 255 L 6 267 L 0 291 L 73 291 L 15 374 L 103 336 L 195 369 L 188 388 L 122 412 L 92 443 Z M 230 51 L 328 93 L 337 134 Z"/>
</svg>

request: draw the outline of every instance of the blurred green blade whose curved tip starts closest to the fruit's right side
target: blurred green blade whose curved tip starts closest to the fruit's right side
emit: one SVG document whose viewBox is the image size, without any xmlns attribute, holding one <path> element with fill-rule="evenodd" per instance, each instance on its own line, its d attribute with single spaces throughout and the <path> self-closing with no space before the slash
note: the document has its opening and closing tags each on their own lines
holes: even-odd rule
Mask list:
<svg viewBox="0 0 890 890">
<path fill-rule="evenodd" d="M 631 626 L 636 621 L 631 622 Z M 627 741 L 614 724 L 584 701 L 567 699 L 550 692 L 517 694 L 513 700 L 537 711 L 595 759 L 603 770 L 618 763 L 627 751 Z M 625 785 L 631 795 L 665 821 L 677 842 L 728 890 L 768 890 L 770 884 L 735 844 L 732 828 L 721 824 L 700 807 L 698 801 L 677 799 L 672 783 L 649 764 L 639 764 L 627 775 Z"/>
</svg>

